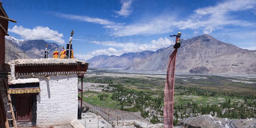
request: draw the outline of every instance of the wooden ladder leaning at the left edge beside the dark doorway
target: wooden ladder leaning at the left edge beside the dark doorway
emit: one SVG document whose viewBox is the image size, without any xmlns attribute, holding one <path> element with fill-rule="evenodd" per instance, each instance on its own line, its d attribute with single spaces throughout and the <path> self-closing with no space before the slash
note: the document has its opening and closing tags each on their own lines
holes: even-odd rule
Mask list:
<svg viewBox="0 0 256 128">
<path fill-rule="evenodd" d="M 8 80 L 4 79 L 3 84 L 5 86 L 5 89 L 1 89 L 1 90 L 4 90 L 6 92 L 6 96 L 4 94 L 2 94 L 2 95 L 3 95 L 3 98 L 7 97 L 7 99 L 8 99 L 8 102 L 4 102 L 5 106 L 8 106 L 6 109 L 6 120 L 9 125 L 9 128 L 17 128 L 17 122 L 15 120 L 15 115 L 14 115 L 14 111 L 12 108 L 12 100 L 11 100 L 11 96 L 9 94 Z M 10 117 L 9 113 L 11 113 L 11 119 L 8 119 Z"/>
</svg>

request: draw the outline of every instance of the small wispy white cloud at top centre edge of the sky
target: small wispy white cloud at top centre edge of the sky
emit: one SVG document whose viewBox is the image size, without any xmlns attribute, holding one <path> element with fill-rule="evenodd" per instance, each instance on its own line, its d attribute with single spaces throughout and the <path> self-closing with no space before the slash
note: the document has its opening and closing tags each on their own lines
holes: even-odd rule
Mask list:
<svg viewBox="0 0 256 128">
<path fill-rule="evenodd" d="M 120 0 L 120 3 L 122 4 L 121 10 L 114 11 L 114 12 L 119 16 L 128 17 L 132 12 L 132 10 L 130 9 L 132 0 Z M 118 16 L 115 15 L 114 17 L 118 17 Z"/>
</svg>

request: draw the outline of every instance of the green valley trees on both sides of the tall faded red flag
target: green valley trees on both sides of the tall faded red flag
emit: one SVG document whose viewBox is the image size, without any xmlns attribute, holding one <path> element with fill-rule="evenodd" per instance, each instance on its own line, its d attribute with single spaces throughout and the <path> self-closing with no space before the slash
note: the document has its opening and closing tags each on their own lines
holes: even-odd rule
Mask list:
<svg viewBox="0 0 256 128">
<path fill-rule="evenodd" d="M 119 100 L 120 103 L 127 102 L 129 104 L 132 104 L 132 102 L 135 100 L 136 105 L 132 108 L 123 108 L 121 107 L 121 110 L 123 111 L 140 111 L 141 115 L 145 118 L 148 117 L 148 112 L 145 112 L 144 109 L 151 106 L 151 109 L 157 110 L 161 113 L 163 111 L 160 109 L 160 107 L 163 105 L 163 92 L 143 92 L 143 91 L 136 91 L 136 90 L 129 90 L 124 88 L 121 84 L 110 84 L 110 87 L 116 87 L 113 90 L 111 99 L 113 100 Z M 197 94 L 198 96 L 236 96 L 236 97 L 244 97 L 245 103 L 231 103 L 230 99 L 226 99 L 226 102 L 218 103 L 221 105 L 221 107 L 218 107 L 217 104 L 213 105 L 207 105 L 207 106 L 201 106 L 194 102 L 187 102 L 186 104 L 177 104 L 174 105 L 174 109 L 176 110 L 174 113 L 174 116 L 178 118 L 177 112 L 180 112 L 180 117 L 187 118 L 189 117 L 189 113 L 193 113 L 192 116 L 198 116 L 197 113 L 201 114 L 209 114 L 211 111 L 213 112 L 212 116 L 214 116 L 215 112 L 217 112 L 217 116 L 221 118 L 230 118 L 230 119 L 245 119 L 245 118 L 254 118 L 256 117 L 256 109 L 250 110 L 247 109 L 247 107 L 244 107 L 244 105 L 249 107 L 256 107 L 256 101 L 254 100 L 256 97 L 252 95 L 238 95 L 235 93 L 225 93 L 225 92 L 217 92 L 217 91 L 205 91 L 205 90 L 199 90 L 197 88 L 191 88 L 191 87 L 177 87 L 178 90 L 183 90 L 180 95 L 189 95 L 189 94 Z M 116 93 L 117 92 L 117 93 Z M 134 99 L 131 99 L 131 97 L 127 97 L 127 95 L 130 94 L 132 96 L 133 94 L 137 97 Z M 157 94 L 158 97 L 153 98 L 152 95 Z M 126 97 L 125 100 L 122 101 L 122 99 L 119 99 L 120 97 Z M 144 105 L 144 108 L 142 107 Z M 240 105 L 240 107 L 237 107 Z M 222 114 L 222 110 L 224 108 L 228 108 L 229 110 Z M 230 109 L 234 108 L 234 109 Z M 186 114 L 187 113 L 187 114 Z M 184 116 L 183 116 L 184 115 Z M 157 119 L 151 119 L 152 123 L 159 122 Z M 154 121 L 153 121 L 154 120 Z M 177 120 L 175 120 L 177 123 Z M 175 124 L 176 124 L 175 123 Z"/>
</svg>

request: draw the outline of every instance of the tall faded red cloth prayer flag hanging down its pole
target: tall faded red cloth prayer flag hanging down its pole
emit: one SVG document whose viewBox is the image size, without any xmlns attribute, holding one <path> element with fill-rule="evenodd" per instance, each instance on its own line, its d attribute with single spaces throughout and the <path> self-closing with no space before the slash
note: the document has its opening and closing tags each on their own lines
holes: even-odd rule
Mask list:
<svg viewBox="0 0 256 128">
<path fill-rule="evenodd" d="M 163 124 L 164 128 L 173 128 L 173 103 L 174 103 L 174 81 L 175 81 L 175 61 L 177 49 L 169 56 L 166 84 L 164 88 L 164 111 Z"/>
</svg>

